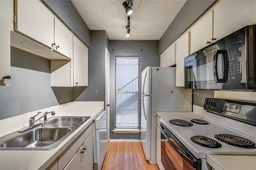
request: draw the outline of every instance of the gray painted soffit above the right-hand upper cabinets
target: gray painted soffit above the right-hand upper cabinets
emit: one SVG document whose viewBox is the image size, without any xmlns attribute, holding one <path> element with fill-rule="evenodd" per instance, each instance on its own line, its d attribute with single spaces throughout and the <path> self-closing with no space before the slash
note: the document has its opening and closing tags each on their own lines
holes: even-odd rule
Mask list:
<svg viewBox="0 0 256 170">
<path fill-rule="evenodd" d="M 159 54 L 169 47 L 190 25 L 217 1 L 187 0 L 159 41 Z"/>
</svg>

